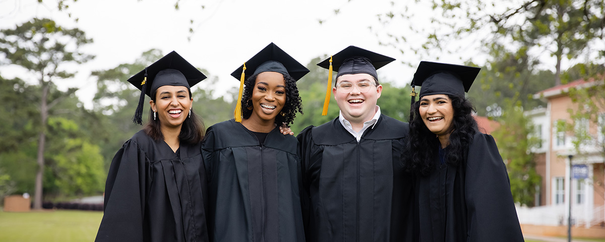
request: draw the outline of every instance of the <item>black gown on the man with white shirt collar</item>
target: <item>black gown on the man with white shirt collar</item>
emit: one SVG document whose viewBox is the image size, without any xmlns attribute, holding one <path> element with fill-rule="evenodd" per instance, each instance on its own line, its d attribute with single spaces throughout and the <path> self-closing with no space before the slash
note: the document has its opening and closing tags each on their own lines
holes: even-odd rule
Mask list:
<svg viewBox="0 0 605 242">
<path fill-rule="evenodd" d="M 307 241 L 412 241 L 408 124 L 381 115 L 359 142 L 336 118 L 299 135 Z"/>
</svg>

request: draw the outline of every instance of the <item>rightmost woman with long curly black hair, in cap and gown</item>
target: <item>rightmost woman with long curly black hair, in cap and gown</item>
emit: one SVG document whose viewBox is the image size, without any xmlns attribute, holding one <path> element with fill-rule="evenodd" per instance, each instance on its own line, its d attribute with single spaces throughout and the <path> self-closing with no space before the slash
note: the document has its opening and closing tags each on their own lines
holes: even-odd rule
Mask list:
<svg viewBox="0 0 605 242">
<path fill-rule="evenodd" d="M 480 68 L 420 62 L 402 162 L 416 179 L 419 241 L 523 241 L 506 166 L 464 97 Z"/>
</svg>

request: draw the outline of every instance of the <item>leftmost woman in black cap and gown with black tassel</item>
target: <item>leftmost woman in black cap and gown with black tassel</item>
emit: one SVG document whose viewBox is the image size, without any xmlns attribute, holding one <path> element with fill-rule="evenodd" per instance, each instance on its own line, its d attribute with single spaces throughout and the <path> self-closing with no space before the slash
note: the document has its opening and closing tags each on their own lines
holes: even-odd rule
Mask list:
<svg viewBox="0 0 605 242">
<path fill-rule="evenodd" d="M 206 76 L 172 51 L 128 79 L 141 90 L 133 121 L 149 121 L 111 162 L 96 241 L 208 241 L 204 126 L 191 87 Z"/>
</svg>

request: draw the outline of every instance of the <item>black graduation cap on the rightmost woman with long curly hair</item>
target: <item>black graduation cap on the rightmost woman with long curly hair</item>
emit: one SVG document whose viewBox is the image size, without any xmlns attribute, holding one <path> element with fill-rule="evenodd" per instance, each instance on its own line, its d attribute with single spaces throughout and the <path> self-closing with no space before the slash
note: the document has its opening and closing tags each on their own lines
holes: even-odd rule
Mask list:
<svg viewBox="0 0 605 242">
<path fill-rule="evenodd" d="M 418 65 L 411 87 L 411 103 L 416 102 L 414 87 L 421 86 L 420 97 L 434 94 L 450 94 L 464 97 L 473 85 L 481 68 L 466 65 L 445 64 L 439 62 L 421 61 Z M 410 109 L 411 112 L 411 109 Z M 411 115 L 410 115 L 411 119 Z"/>
</svg>

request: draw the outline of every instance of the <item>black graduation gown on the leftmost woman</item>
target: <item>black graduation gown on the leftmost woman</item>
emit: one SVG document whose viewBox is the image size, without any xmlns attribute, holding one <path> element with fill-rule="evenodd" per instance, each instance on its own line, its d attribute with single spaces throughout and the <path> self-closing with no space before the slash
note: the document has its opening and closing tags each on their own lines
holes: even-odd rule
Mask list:
<svg viewBox="0 0 605 242">
<path fill-rule="evenodd" d="M 95 241 L 208 241 L 200 144 L 181 143 L 177 152 L 144 131 L 124 143 L 111 162 Z"/>
</svg>

